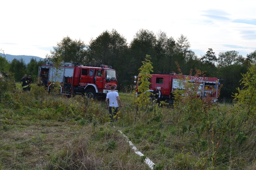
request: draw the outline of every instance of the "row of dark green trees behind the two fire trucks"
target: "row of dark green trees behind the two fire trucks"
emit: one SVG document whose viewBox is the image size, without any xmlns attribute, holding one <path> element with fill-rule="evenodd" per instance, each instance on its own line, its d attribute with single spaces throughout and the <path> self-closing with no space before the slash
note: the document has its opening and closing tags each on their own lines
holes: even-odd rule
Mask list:
<svg viewBox="0 0 256 170">
<path fill-rule="evenodd" d="M 236 87 L 240 86 L 241 73 L 246 73 L 248 67 L 256 63 L 256 50 L 246 57 L 239 55 L 238 51 L 221 52 L 217 57 L 213 49 L 209 48 L 206 54 L 198 57 L 190 50 L 190 42 L 184 35 L 175 40 L 173 37 L 167 37 L 163 31 L 154 34 L 147 29 L 139 30 L 130 44 L 114 29 L 103 31 L 98 37 L 91 39 L 89 44 L 67 36 L 57 42 L 46 58 L 61 58 L 64 62 L 78 62 L 84 65 L 111 65 L 118 72 L 120 88 L 133 82 L 133 77 L 138 75 L 141 62 L 147 54 L 151 56 L 152 74 L 159 71 L 177 73 L 177 62 L 183 74 L 189 74 L 191 69 L 195 74 L 195 70 L 200 69 L 205 76 L 220 78 L 221 84 L 224 84 L 221 98 L 231 98 L 233 93 L 237 92 Z M 18 67 L 15 64 L 20 64 L 17 75 L 14 69 Z M 17 79 L 22 77 L 23 72 L 37 76 L 40 64 L 41 61 L 36 63 L 31 60 L 26 67 L 22 60 L 16 60 L 10 63 L 9 71 L 14 72 Z M 1 68 L 1 63 L 0 70 L 6 70 Z"/>
</svg>

